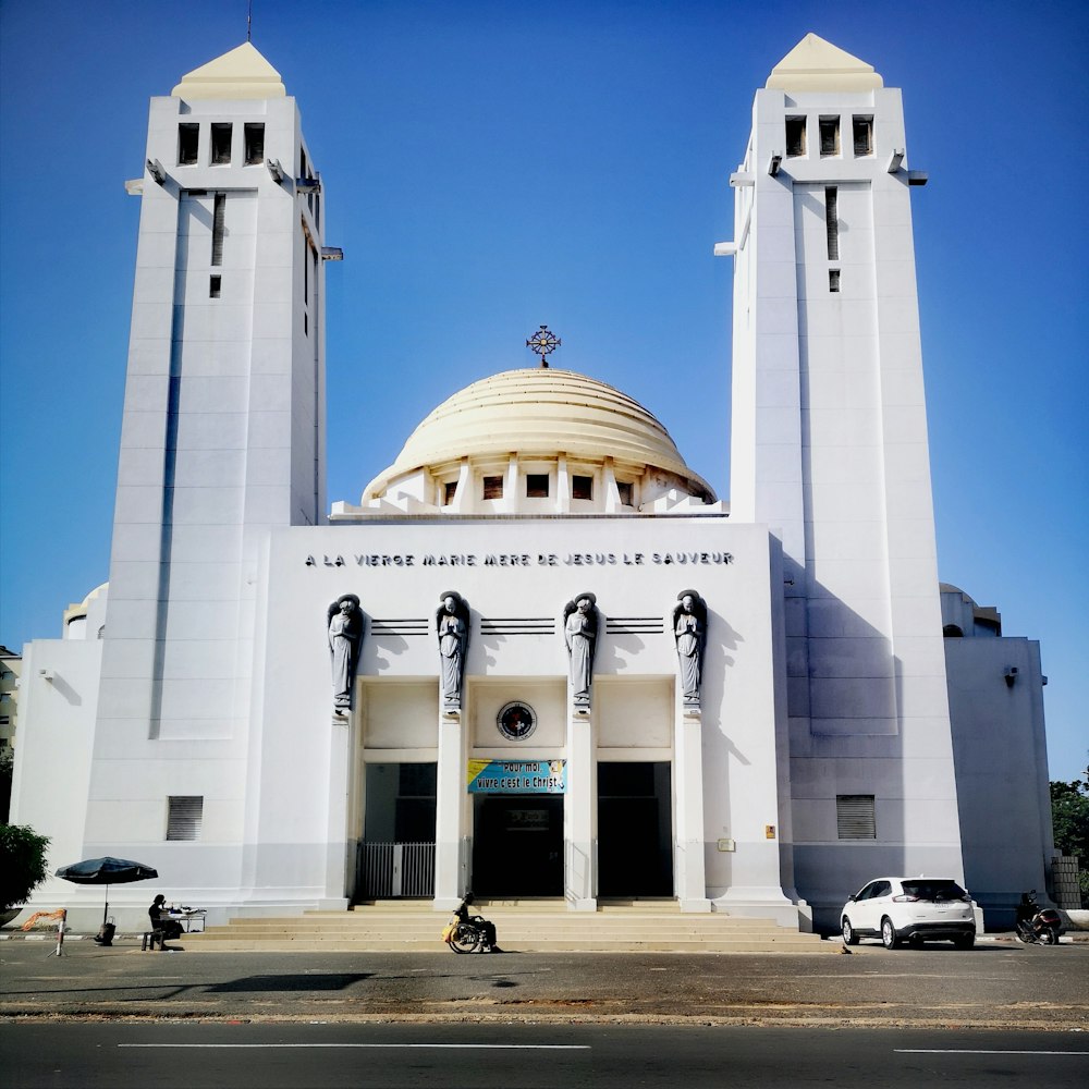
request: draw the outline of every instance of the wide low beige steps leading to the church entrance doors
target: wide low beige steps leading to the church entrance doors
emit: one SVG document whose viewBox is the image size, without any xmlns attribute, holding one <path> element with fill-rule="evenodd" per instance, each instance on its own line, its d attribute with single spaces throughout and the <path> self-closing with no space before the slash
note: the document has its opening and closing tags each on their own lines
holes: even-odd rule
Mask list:
<svg viewBox="0 0 1089 1089">
<path fill-rule="evenodd" d="M 683 915 L 674 901 L 602 902 L 594 913 L 568 911 L 562 901 L 477 901 L 474 910 L 495 923 L 499 944 L 519 953 L 830 953 L 816 934 L 763 919 L 722 913 Z M 381 901 L 347 911 L 307 911 L 292 918 L 232 919 L 185 934 L 192 952 L 319 951 L 437 953 L 450 916 L 430 902 Z"/>
</svg>

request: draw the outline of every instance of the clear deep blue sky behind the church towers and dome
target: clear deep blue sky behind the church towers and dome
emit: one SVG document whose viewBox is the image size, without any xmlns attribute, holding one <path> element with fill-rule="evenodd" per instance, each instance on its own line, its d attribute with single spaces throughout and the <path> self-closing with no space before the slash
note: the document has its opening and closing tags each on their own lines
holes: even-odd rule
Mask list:
<svg viewBox="0 0 1089 1089">
<path fill-rule="evenodd" d="M 486 375 L 647 405 L 729 498 L 732 192 L 809 30 L 904 89 L 941 578 L 1039 639 L 1053 778 L 1087 764 L 1084 3 L 254 0 L 326 183 L 329 499 Z M 0 643 L 108 576 L 147 100 L 246 0 L 0 0 Z"/>
</svg>

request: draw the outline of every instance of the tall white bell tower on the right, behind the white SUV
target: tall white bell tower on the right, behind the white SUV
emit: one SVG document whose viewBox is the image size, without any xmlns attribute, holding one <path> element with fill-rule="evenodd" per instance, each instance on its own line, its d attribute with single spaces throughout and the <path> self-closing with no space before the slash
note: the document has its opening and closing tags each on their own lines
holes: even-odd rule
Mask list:
<svg viewBox="0 0 1089 1089">
<path fill-rule="evenodd" d="M 735 258 L 731 513 L 783 543 L 783 819 L 817 904 L 856 869 L 962 873 L 909 199 L 925 181 L 901 93 L 810 34 L 757 91 L 735 241 L 717 247 Z"/>
</svg>

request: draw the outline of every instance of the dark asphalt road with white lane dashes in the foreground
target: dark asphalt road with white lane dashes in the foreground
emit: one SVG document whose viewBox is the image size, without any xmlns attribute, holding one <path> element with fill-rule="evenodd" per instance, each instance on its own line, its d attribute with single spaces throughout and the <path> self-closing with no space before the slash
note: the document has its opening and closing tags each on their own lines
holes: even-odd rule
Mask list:
<svg viewBox="0 0 1089 1089">
<path fill-rule="evenodd" d="M 1082 1089 L 1089 1035 L 626 1025 L 2 1025 L 11 1089 Z"/>
</svg>

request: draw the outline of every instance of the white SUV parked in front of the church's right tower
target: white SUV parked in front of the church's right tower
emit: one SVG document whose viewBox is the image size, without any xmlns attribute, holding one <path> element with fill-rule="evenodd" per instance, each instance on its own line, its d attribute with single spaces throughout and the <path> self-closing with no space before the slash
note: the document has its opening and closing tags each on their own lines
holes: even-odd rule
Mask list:
<svg viewBox="0 0 1089 1089">
<path fill-rule="evenodd" d="M 847 945 L 880 938 L 886 950 L 901 941 L 951 941 L 958 950 L 976 942 L 971 897 L 951 878 L 878 878 L 862 885 L 840 913 Z"/>
</svg>

